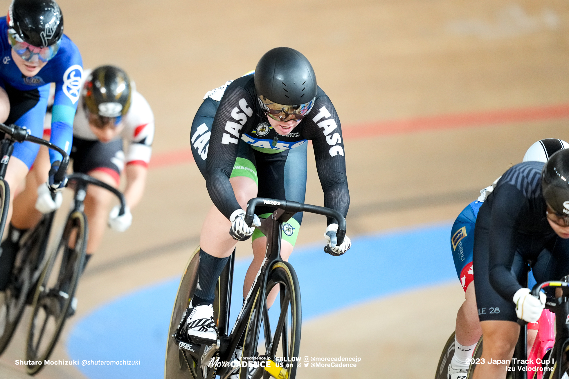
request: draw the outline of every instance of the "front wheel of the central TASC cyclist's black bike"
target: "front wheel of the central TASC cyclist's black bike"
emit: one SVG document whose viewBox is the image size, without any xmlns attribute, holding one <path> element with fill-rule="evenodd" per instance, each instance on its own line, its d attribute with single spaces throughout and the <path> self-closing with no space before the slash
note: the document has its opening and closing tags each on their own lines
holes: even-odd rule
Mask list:
<svg viewBox="0 0 569 379">
<path fill-rule="evenodd" d="M 300 350 L 300 331 L 302 326 L 302 313 L 300 305 L 300 288 L 298 279 L 292 266 L 288 262 L 277 262 L 270 270 L 266 294 L 270 293 L 275 285 L 280 286 L 279 321 L 275 332 L 271 332 L 268 313 L 263 312 L 261 323 L 257 324 L 259 312 L 259 296 L 261 289 L 254 294 L 254 306 L 249 314 L 248 324 L 245 328 L 243 353 L 241 358 L 240 379 L 261 379 L 269 377 L 268 369 L 243 367 L 244 362 L 250 363 L 250 357 L 259 357 L 260 361 L 275 360 L 275 356 L 282 356 L 282 368 L 271 372 L 278 378 L 294 379 L 296 376 L 296 357 Z M 253 295 L 253 294 L 251 294 Z M 277 302 L 275 302 L 275 307 Z M 265 308 L 266 309 L 266 308 Z M 265 343 L 261 339 L 265 340 Z M 267 340 L 272 342 L 266 343 Z M 279 352 L 280 351 L 280 352 Z M 293 358 L 294 357 L 294 358 Z M 293 361 L 294 359 L 294 361 Z M 273 366 L 274 367 L 274 366 Z"/>
</svg>

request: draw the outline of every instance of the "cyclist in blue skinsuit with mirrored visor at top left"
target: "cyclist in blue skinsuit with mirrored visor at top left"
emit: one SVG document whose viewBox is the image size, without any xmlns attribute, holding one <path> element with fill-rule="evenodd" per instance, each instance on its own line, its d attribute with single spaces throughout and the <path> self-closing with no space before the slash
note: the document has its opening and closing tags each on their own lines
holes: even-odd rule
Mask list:
<svg viewBox="0 0 569 379">
<path fill-rule="evenodd" d="M 26 127 L 42 138 L 50 83 L 55 83 L 51 142 L 69 153 L 73 138 L 73 118 L 80 95 L 83 61 L 76 45 L 63 34 L 63 15 L 53 0 L 13 0 L 8 15 L 0 18 L 0 122 Z M 14 195 L 22 189 L 34 163 L 39 145 L 16 143 L 5 179 L 10 186 L 10 213 Z M 64 183 L 53 182 L 61 155 L 50 150 L 50 180 L 53 190 Z M 19 232 L 11 227 L 11 239 Z M 15 252 L 14 252 L 15 253 Z M 0 256 L 0 290 L 14 255 Z"/>
</svg>

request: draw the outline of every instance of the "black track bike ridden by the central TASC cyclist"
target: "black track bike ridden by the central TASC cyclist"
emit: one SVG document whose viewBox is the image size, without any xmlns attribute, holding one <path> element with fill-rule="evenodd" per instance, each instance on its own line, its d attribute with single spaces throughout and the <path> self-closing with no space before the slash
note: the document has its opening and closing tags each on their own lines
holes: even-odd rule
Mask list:
<svg viewBox="0 0 569 379">
<path fill-rule="evenodd" d="M 301 306 L 300 288 L 292 265 L 281 259 L 281 232 L 286 223 L 297 212 L 309 212 L 336 219 L 339 224 L 337 243 L 344 240 L 346 222 L 335 210 L 292 201 L 254 198 L 248 203 L 245 222 L 253 223 L 257 205 L 271 206 L 277 210 L 261 221 L 261 231 L 267 236 L 265 260 L 247 295 L 237 321 L 229 332 L 229 310 L 233 282 L 234 255 L 228 260 L 216 285 L 213 304 L 214 318 L 218 328 L 218 340 L 212 345 L 187 343 L 180 330 L 188 315 L 189 306 L 197 284 L 199 251 L 190 257 L 180 286 L 172 318 L 170 338 L 166 347 L 166 379 L 213 379 L 220 376 L 240 379 L 261 379 L 273 376 L 294 379 L 300 365 Z M 327 247 L 324 250 L 332 251 Z M 332 255 L 336 255 L 332 253 Z M 271 328 L 266 298 L 271 289 L 279 286 L 280 298 L 273 307 L 279 306 L 278 322 Z M 182 320 L 182 321 L 180 321 Z"/>
</svg>

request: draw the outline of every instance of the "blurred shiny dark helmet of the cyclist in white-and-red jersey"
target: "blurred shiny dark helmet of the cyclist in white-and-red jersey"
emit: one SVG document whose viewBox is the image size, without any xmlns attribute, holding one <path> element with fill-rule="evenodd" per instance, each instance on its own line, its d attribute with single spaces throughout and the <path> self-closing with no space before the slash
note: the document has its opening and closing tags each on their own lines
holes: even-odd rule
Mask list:
<svg viewBox="0 0 569 379">
<path fill-rule="evenodd" d="M 89 74 L 84 87 L 85 106 L 102 117 L 124 116 L 130 107 L 129 76 L 115 66 L 100 66 Z"/>
</svg>

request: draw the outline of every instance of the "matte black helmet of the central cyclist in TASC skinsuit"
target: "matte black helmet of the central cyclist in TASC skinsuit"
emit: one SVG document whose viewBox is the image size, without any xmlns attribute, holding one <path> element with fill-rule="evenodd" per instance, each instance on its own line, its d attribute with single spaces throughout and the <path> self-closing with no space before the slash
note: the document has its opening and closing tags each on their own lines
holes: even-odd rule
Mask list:
<svg viewBox="0 0 569 379">
<path fill-rule="evenodd" d="M 302 53 L 277 47 L 265 53 L 255 68 L 255 90 L 271 102 L 306 104 L 316 96 L 316 76 Z"/>
</svg>

